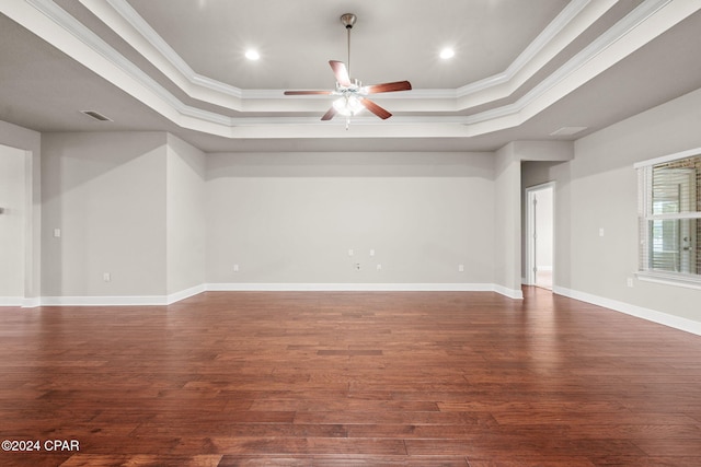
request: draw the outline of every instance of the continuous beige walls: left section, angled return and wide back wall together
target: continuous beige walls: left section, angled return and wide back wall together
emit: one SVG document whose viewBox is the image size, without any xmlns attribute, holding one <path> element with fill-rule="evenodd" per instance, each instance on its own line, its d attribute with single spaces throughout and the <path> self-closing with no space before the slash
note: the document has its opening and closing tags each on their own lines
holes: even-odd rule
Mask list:
<svg viewBox="0 0 701 467">
<path fill-rule="evenodd" d="M 205 156 L 165 133 L 48 133 L 44 147 L 49 302 L 205 283 L 494 283 L 489 153 Z"/>
</svg>

